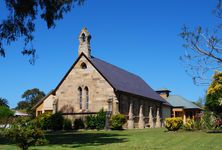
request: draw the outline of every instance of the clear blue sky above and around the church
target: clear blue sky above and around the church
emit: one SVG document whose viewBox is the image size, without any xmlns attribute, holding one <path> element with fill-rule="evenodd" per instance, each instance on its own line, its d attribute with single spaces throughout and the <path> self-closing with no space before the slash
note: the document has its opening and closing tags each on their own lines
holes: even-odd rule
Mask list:
<svg viewBox="0 0 222 150">
<path fill-rule="evenodd" d="M 75 7 L 53 30 L 36 22 L 36 64 L 20 53 L 23 42 L 6 47 L 0 58 L 0 97 L 15 107 L 31 88 L 49 92 L 77 58 L 78 34 L 87 27 L 92 55 L 140 75 L 153 89 L 168 88 L 190 100 L 203 97 L 207 87 L 195 86 L 179 57 L 184 54 L 181 27 L 219 23 L 212 15 L 216 0 L 87 0 Z M 0 1 L 5 17 L 3 0 Z"/>
</svg>

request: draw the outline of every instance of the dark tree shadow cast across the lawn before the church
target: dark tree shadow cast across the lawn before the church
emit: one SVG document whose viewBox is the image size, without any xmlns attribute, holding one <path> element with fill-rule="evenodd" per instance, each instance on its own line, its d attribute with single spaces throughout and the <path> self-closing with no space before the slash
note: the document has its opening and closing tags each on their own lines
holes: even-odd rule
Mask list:
<svg viewBox="0 0 222 150">
<path fill-rule="evenodd" d="M 49 142 L 48 146 L 63 145 L 74 148 L 127 142 L 127 138 L 123 136 L 112 133 L 58 132 L 46 134 L 46 139 Z"/>
</svg>

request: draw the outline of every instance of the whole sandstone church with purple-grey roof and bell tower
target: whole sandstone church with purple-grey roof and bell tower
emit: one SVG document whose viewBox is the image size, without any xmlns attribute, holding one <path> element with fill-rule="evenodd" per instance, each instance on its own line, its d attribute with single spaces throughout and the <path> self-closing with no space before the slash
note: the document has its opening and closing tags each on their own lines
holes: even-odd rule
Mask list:
<svg viewBox="0 0 222 150">
<path fill-rule="evenodd" d="M 171 106 L 142 78 L 91 55 L 91 35 L 79 34 L 78 58 L 60 83 L 35 106 L 36 116 L 61 111 L 75 119 L 101 109 L 126 116 L 128 128 L 161 127 Z"/>
</svg>

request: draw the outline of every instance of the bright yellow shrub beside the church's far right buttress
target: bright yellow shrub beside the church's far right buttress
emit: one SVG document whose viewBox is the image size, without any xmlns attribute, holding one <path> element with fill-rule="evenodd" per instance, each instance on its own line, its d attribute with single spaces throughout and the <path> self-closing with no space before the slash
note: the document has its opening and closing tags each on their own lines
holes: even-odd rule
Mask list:
<svg viewBox="0 0 222 150">
<path fill-rule="evenodd" d="M 165 127 L 168 131 L 177 131 L 183 125 L 183 120 L 180 117 L 166 118 Z"/>
</svg>

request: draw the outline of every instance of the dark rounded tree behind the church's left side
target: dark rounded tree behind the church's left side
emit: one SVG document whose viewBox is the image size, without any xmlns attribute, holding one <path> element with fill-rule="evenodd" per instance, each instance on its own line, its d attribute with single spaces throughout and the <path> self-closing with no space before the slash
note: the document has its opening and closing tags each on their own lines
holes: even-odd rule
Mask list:
<svg viewBox="0 0 222 150">
<path fill-rule="evenodd" d="M 45 93 L 43 91 L 40 91 L 38 88 L 33 88 L 30 90 L 26 90 L 22 94 L 23 101 L 20 101 L 17 104 L 17 108 L 24 107 L 27 111 L 27 113 L 31 115 L 35 115 L 34 110 L 32 110 L 32 107 L 43 97 L 45 97 Z M 25 107 L 27 106 L 27 107 Z"/>
</svg>

